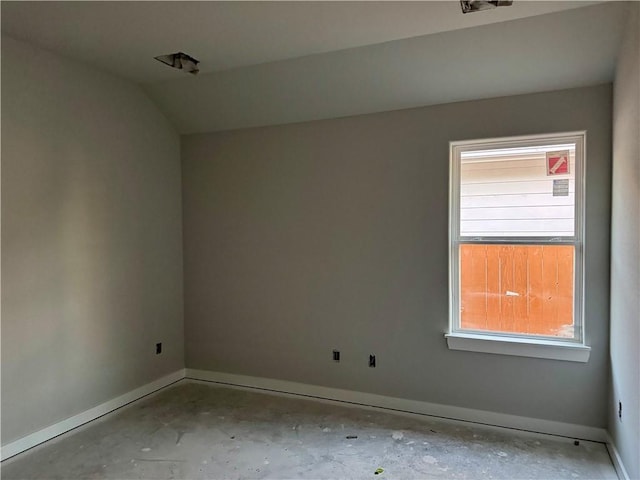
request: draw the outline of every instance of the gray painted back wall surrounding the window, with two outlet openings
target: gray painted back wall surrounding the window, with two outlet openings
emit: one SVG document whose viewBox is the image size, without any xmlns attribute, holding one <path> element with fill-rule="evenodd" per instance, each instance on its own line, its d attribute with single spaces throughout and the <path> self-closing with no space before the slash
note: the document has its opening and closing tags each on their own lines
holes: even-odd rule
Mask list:
<svg viewBox="0 0 640 480">
<path fill-rule="evenodd" d="M 187 367 L 604 427 L 611 103 L 605 84 L 183 136 Z M 582 129 L 589 362 L 448 350 L 448 142 Z"/>
</svg>

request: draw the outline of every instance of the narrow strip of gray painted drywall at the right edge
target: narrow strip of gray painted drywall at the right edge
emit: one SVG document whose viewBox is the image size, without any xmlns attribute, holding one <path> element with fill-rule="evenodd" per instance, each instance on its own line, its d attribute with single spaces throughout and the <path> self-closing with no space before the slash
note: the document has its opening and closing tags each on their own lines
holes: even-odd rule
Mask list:
<svg viewBox="0 0 640 480">
<path fill-rule="evenodd" d="M 640 6 L 629 8 L 613 103 L 609 432 L 640 478 Z M 622 402 L 622 419 L 618 418 Z"/>
</svg>

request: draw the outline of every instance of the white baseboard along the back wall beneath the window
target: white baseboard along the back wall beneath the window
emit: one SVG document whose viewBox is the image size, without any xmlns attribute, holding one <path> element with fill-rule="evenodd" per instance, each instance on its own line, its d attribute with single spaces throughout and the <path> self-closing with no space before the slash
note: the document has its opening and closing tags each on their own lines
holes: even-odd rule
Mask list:
<svg viewBox="0 0 640 480">
<path fill-rule="evenodd" d="M 607 432 L 602 428 L 427 403 L 417 400 L 386 397 L 372 393 L 307 385 L 285 380 L 249 377 L 190 368 L 186 370 L 186 379 L 215 382 L 233 387 L 259 389 L 278 394 L 312 397 L 323 401 L 340 402 L 367 408 L 373 407 L 387 411 L 391 410 L 396 413 L 426 415 L 450 421 L 472 422 L 490 427 L 516 429 L 536 434 L 554 435 L 557 437 L 602 443 L 607 441 Z"/>
</svg>

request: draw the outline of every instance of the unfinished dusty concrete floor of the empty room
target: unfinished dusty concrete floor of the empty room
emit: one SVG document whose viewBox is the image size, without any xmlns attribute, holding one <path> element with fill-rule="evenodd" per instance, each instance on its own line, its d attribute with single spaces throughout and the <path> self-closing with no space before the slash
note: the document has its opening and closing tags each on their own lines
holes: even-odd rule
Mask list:
<svg viewBox="0 0 640 480">
<path fill-rule="evenodd" d="M 1 474 L 5 480 L 617 478 L 600 443 L 575 446 L 188 382 L 9 459 Z"/>
</svg>

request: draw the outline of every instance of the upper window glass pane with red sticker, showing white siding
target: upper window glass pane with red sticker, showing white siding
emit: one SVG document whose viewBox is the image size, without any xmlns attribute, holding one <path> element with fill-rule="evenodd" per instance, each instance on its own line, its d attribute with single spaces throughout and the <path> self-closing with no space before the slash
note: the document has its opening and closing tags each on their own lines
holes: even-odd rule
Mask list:
<svg viewBox="0 0 640 480">
<path fill-rule="evenodd" d="M 463 151 L 460 235 L 573 237 L 575 144 Z"/>
</svg>

